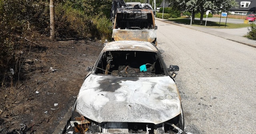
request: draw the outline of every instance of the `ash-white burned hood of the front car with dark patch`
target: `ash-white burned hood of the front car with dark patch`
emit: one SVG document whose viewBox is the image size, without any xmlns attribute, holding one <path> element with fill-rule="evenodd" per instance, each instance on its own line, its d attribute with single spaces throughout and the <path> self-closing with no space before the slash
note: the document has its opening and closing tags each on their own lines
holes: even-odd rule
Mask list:
<svg viewBox="0 0 256 134">
<path fill-rule="evenodd" d="M 96 122 L 159 124 L 181 112 L 174 81 L 168 77 L 89 75 L 78 94 L 76 110 Z"/>
</svg>

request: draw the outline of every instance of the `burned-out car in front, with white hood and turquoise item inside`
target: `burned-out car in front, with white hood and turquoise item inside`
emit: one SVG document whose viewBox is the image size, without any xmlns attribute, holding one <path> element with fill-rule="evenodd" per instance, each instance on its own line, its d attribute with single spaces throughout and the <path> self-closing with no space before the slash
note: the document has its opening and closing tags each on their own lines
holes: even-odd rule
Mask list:
<svg viewBox="0 0 256 134">
<path fill-rule="evenodd" d="M 166 67 L 153 43 L 107 43 L 82 84 L 71 126 L 82 134 L 182 133 L 178 70 Z"/>
</svg>

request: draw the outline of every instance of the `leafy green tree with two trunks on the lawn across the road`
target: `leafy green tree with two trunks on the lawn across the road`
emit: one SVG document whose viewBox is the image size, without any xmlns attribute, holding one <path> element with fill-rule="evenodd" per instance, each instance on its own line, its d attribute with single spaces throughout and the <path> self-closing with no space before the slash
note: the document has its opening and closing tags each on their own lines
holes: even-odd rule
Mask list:
<svg viewBox="0 0 256 134">
<path fill-rule="evenodd" d="M 193 11 L 192 22 L 194 22 L 194 15 L 200 13 L 200 24 L 203 24 L 204 13 L 211 10 L 212 13 L 219 11 L 227 12 L 232 7 L 237 7 L 236 0 L 168 0 L 171 6 L 175 6 L 182 11 Z"/>
</svg>

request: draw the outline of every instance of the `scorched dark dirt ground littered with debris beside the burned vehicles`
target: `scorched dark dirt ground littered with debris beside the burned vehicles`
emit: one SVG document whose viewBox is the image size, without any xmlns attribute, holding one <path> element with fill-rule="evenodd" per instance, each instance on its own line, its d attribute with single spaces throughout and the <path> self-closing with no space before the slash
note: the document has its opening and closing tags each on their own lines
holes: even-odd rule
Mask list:
<svg viewBox="0 0 256 134">
<path fill-rule="evenodd" d="M 0 134 L 54 132 L 102 48 L 90 39 L 41 39 L 17 51 L 21 68 L 6 69 L 0 86 Z"/>
</svg>

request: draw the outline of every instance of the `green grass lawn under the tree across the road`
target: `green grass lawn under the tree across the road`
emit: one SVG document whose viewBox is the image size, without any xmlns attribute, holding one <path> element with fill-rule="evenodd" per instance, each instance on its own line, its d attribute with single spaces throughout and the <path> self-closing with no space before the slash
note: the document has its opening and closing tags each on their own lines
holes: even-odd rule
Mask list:
<svg viewBox="0 0 256 134">
<path fill-rule="evenodd" d="M 188 19 L 188 18 L 169 18 L 168 20 L 172 21 L 172 22 L 180 23 L 180 24 L 190 25 L 190 19 Z M 205 25 L 205 21 L 203 21 L 203 25 L 200 25 L 200 20 L 195 20 L 195 24 L 192 24 L 192 26 L 204 26 L 204 25 Z M 226 28 L 244 28 L 244 27 L 249 27 L 249 26 L 250 26 L 250 24 L 227 23 Z M 208 27 L 208 28 L 225 28 L 225 23 L 207 21 L 206 27 Z"/>
</svg>

